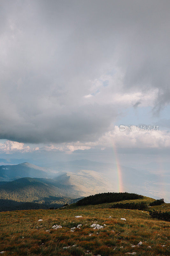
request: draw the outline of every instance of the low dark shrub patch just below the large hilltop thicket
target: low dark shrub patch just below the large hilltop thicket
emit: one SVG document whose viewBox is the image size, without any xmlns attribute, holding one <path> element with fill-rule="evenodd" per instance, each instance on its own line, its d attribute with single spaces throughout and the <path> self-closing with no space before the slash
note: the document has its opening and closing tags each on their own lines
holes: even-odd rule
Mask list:
<svg viewBox="0 0 170 256">
<path fill-rule="evenodd" d="M 146 210 L 147 209 L 147 204 L 145 202 L 141 203 L 126 203 L 126 204 L 113 204 L 109 208 L 119 208 L 119 209 L 137 209 L 137 210 Z"/>
</svg>

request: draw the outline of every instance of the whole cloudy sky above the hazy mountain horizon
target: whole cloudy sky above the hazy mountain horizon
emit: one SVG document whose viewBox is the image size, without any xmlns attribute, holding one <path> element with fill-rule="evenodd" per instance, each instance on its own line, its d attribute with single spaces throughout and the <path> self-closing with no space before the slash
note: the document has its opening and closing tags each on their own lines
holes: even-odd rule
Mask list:
<svg viewBox="0 0 170 256">
<path fill-rule="evenodd" d="M 125 166 L 168 165 L 169 12 L 166 0 L 2 0 L 0 158 L 114 163 L 116 148 Z"/>
</svg>

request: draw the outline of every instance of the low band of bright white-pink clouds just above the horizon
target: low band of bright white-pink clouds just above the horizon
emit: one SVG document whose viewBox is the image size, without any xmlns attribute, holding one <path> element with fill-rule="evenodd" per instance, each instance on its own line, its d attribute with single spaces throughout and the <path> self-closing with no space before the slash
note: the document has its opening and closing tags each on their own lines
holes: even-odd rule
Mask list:
<svg viewBox="0 0 170 256">
<path fill-rule="evenodd" d="M 34 145 L 34 144 L 33 144 Z M 96 141 L 88 142 L 71 142 L 71 143 L 53 143 L 48 145 L 34 147 L 33 145 L 27 146 L 24 143 L 7 140 L 4 143 L 0 143 L 0 153 L 13 153 L 15 151 L 25 152 L 42 152 L 42 151 L 62 151 L 65 153 L 72 153 L 76 150 L 87 150 L 91 148 L 98 148 L 104 150 L 105 148 L 131 149 L 140 151 L 150 149 L 155 150 L 170 150 L 170 132 L 168 131 L 126 131 L 121 132 L 118 126 L 115 126 L 113 130 L 106 132 Z M 121 151 L 120 151 L 121 152 Z M 128 151 L 127 151 L 128 152 Z"/>
</svg>

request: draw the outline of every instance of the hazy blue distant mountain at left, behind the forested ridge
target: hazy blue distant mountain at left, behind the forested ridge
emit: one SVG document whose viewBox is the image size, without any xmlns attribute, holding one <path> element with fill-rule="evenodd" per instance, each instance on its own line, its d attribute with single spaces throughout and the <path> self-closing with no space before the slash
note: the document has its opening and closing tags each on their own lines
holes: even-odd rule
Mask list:
<svg viewBox="0 0 170 256">
<path fill-rule="evenodd" d="M 0 181 L 11 181 L 24 177 L 50 178 L 53 176 L 53 172 L 48 168 L 29 163 L 0 166 Z"/>
</svg>

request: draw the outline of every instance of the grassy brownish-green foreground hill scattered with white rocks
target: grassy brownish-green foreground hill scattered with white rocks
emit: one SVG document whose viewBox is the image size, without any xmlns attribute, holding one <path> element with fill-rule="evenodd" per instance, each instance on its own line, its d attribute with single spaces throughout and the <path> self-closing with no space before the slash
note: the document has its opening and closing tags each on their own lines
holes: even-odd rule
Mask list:
<svg viewBox="0 0 170 256">
<path fill-rule="evenodd" d="M 121 203 L 145 201 L 149 204 L 153 200 L 144 197 Z M 110 209 L 111 204 L 114 203 L 73 204 L 57 210 L 1 212 L 0 252 L 14 256 L 123 256 L 128 255 L 125 254 L 127 252 L 136 252 L 137 256 L 169 255 L 169 222 L 152 219 L 148 211 Z M 153 208 L 170 211 L 170 204 L 149 207 Z M 75 218 L 77 215 L 82 218 Z M 90 227 L 93 223 L 103 228 Z M 77 228 L 79 224 L 82 225 L 80 229 Z M 53 225 L 61 225 L 62 228 L 55 230 Z M 76 228 L 71 232 L 73 227 Z M 142 245 L 138 247 L 140 241 Z M 63 248 L 66 246 L 70 247 Z"/>
</svg>

